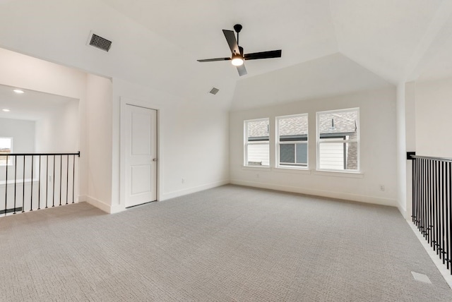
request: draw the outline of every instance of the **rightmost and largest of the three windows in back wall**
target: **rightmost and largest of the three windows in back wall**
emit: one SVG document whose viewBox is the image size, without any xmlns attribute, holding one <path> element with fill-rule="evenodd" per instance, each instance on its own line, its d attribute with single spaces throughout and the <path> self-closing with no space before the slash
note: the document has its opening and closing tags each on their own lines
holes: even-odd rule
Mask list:
<svg viewBox="0 0 452 302">
<path fill-rule="evenodd" d="M 359 170 L 359 108 L 317 112 L 317 169 Z"/>
</svg>

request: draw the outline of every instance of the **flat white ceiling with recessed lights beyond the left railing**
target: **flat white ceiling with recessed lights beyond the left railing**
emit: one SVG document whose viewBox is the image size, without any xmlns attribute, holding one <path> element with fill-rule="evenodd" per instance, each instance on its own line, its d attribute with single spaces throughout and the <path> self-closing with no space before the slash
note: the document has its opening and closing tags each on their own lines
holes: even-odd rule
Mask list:
<svg viewBox="0 0 452 302">
<path fill-rule="evenodd" d="M 52 114 L 52 111 L 64 106 L 67 102 L 78 100 L 49 93 L 33 90 L 23 90 L 25 93 L 18 95 L 13 92 L 17 87 L 0 85 L 0 118 L 24 119 L 37 121 L 42 117 Z M 2 109 L 9 109 L 5 112 Z"/>
</svg>

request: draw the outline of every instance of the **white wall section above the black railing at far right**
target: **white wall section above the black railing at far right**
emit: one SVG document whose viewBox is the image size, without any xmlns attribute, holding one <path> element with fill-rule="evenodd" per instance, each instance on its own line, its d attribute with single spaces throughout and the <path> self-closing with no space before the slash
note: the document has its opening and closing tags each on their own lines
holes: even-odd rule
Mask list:
<svg viewBox="0 0 452 302">
<path fill-rule="evenodd" d="M 452 158 L 452 78 L 415 84 L 416 155 Z"/>
</svg>

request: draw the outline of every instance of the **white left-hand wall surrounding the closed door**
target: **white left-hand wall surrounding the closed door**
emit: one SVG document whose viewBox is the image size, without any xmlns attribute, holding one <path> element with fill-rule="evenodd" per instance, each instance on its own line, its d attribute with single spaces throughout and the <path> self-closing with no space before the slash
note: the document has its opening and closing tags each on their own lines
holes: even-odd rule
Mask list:
<svg viewBox="0 0 452 302">
<path fill-rule="evenodd" d="M 0 49 L 0 63 L 4 71 L 1 84 L 79 99 L 80 195 L 102 210 L 124 210 L 120 198 L 121 97 L 138 99 L 160 110 L 159 200 L 228 182 L 229 120 L 225 102 L 215 97 L 182 99 L 121 79 L 114 79 L 113 85 L 97 75 L 5 49 Z M 49 126 L 57 121 L 43 121 L 41 130 L 45 123 Z"/>
</svg>

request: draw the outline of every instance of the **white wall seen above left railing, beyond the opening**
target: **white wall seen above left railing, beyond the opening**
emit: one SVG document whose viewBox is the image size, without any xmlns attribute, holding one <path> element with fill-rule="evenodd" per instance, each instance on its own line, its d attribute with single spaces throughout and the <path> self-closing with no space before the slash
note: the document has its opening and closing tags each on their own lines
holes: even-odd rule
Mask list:
<svg viewBox="0 0 452 302">
<path fill-rule="evenodd" d="M 47 116 L 37 120 L 35 152 L 77 152 L 80 128 L 78 116 L 78 99 L 74 99 L 55 107 Z"/>
</svg>

